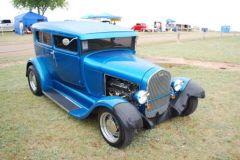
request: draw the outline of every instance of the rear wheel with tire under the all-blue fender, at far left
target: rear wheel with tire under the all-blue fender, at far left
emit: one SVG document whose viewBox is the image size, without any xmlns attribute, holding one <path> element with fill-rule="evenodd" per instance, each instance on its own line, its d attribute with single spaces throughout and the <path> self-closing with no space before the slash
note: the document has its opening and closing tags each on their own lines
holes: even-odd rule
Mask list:
<svg viewBox="0 0 240 160">
<path fill-rule="evenodd" d="M 28 77 L 28 84 L 32 93 L 37 96 L 42 95 L 42 87 L 40 84 L 40 79 L 33 65 L 28 67 L 27 77 Z"/>
</svg>

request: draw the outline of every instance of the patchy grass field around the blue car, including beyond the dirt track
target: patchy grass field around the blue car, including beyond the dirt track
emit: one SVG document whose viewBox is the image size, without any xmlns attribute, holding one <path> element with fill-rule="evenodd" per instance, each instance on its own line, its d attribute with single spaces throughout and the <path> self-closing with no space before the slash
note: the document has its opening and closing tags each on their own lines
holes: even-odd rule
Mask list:
<svg viewBox="0 0 240 160">
<path fill-rule="evenodd" d="M 12 40 L 0 42 L 31 41 L 30 36 L 22 41 L 12 36 Z M 239 64 L 239 42 L 240 37 L 226 37 L 146 43 L 137 47 L 137 55 Z M 172 77 L 197 81 L 206 98 L 192 115 L 165 121 L 152 130 L 139 130 L 130 146 L 115 149 L 102 138 L 96 117 L 75 119 L 46 96 L 31 93 L 25 64 L 14 62 L 27 61 L 34 53 L 9 54 L 0 55 L 0 159 L 240 159 L 237 71 L 161 64 Z"/>
</svg>

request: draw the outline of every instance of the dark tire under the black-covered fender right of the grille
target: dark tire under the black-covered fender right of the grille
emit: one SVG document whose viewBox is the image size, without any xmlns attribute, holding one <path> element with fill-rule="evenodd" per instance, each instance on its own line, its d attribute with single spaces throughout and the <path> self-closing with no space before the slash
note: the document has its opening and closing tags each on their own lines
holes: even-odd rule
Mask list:
<svg viewBox="0 0 240 160">
<path fill-rule="evenodd" d="M 187 101 L 187 107 L 183 110 L 181 116 L 188 116 L 192 114 L 198 105 L 198 98 L 197 97 L 189 97 Z"/>
</svg>

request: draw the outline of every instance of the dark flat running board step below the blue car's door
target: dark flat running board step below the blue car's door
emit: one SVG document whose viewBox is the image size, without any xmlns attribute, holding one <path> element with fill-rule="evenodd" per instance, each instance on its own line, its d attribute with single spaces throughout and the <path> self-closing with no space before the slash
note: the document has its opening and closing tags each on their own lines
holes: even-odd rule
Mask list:
<svg viewBox="0 0 240 160">
<path fill-rule="evenodd" d="M 74 102 L 72 102 L 69 98 L 63 96 L 55 89 L 50 89 L 47 91 L 43 91 L 43 93 L 53 100 L 56 104 L 58 104 L 61 108 L 66 110 L 67 112 L 75 111 L 78 109 L 82 109 L 82 107 L 78 106 Z"/>
</svg>

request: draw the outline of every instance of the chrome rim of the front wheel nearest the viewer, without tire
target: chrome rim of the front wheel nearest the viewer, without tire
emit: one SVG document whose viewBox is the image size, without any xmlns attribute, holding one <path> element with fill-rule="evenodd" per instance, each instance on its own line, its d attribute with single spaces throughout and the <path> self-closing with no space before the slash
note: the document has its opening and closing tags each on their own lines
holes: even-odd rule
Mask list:
<svg viewBox="0 0 240 160">
<path fill-rule="evenodd" d="M 120 132 L 117 120 L 110 113 L 103 113 L 100 117 L 100 128 L 104 137 L 111 143 L 118 141 Z"/>
</svg>

